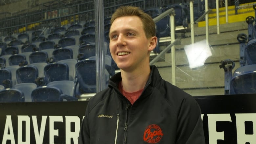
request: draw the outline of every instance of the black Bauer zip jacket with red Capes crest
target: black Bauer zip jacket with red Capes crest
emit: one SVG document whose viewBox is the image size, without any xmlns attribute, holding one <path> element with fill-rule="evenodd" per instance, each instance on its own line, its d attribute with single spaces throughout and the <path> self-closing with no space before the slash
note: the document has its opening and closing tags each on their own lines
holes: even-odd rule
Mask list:
<svg viewBox="0 0 256 144">
<path fill-rule="evenodd" d="M 117 73 L 107 89 L 90 99 L 79 144 L 205 143 L 198 103 L 164 81 L 155 66 L 133 105 L 118 90 L 119 81 Z"/>
</svg>

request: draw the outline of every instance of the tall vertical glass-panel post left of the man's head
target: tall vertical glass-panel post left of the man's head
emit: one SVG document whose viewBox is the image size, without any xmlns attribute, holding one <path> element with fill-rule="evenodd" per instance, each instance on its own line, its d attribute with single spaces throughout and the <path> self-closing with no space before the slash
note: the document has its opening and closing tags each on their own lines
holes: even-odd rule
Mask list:
<svg viewBox="0 0 256 144">
<path fill-rule="evenodd" d="M 106 88 L 103 1 L 95 0 L 96 91 Z"/>
</svg>

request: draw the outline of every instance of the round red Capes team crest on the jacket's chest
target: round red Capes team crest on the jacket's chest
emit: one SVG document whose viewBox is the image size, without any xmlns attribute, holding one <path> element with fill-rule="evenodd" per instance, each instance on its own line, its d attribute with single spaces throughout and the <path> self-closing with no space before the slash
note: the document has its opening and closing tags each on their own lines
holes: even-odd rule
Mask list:
<svg viewBox="0 0 256 144">
<path fill-rule="evenodd" d="M 162 129 L 156 124 L 147 126 L 143 135 L 144 141 L 148 143 L 157 143 L 161 140 L 162 137 Z"/>
</svg>

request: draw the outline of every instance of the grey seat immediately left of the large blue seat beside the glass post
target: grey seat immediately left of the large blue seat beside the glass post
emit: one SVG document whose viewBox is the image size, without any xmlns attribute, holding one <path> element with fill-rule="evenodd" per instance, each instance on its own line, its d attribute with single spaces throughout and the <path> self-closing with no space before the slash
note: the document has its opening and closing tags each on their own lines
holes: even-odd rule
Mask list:
<svg viewBox="0 0 256 144">
<path fill-rule="evenodd" d="M 75 82 L 76 78 L 76 72 L 75 72 L 75 64 L 77 63 L 77 60 L 75 59 L 65 59 L 60 60 L 58 63 L 66 63 L 69 67 L 69 80 Z"/>
</svg>

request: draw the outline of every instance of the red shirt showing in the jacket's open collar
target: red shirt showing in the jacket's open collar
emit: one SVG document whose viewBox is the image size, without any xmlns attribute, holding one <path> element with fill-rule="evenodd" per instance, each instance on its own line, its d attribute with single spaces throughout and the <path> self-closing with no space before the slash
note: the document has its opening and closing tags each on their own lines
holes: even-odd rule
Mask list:
<svg viewBox="0 0 256 144">
<path fill-rule="evenodd" d="M 128 99 L 131 102 L 132 105 L 139 98 L 139 96 L 141 95 L 142 91 L 144 90 L 144 88 L 143 88 L 143 89 L 138 90 L 136 92 L 126 92 L 123 89 L 122 81 L 119 82 L 118 89 L 126 97 L 126 99 Z"/>
</svg>

